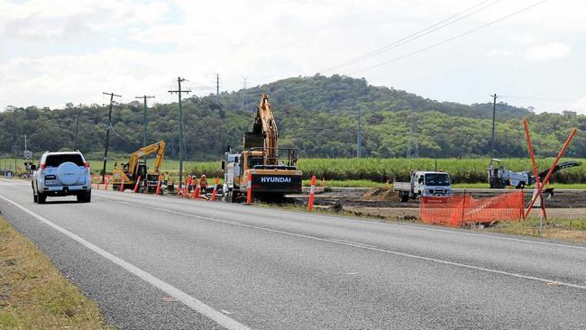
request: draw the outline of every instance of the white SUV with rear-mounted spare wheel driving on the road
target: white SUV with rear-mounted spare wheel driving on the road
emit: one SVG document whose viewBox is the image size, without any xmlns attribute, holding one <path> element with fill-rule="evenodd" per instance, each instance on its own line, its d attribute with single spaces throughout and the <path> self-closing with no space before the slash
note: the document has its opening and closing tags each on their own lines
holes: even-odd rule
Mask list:
<svg viewBox="0 0 586 330">
<path fill-rule="evenodd" d="M 92 197 L 89 164 L 79 151 L 49 152 L 41 156 L 38 166 L 31 166 L 32 198 L 43 204 L 48 196 L 76 195 L 78 202 Z"/>
</svg>

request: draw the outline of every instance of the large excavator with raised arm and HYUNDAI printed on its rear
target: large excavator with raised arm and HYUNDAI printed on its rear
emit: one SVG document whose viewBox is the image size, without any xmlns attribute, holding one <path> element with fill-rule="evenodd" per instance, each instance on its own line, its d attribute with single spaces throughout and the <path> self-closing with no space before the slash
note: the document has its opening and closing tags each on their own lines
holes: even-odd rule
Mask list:
<svg viewBox="0 0 586 330">
<path fill-rule="evenodd" d="M 303 172 L 297 170 L 297 160 L 297 149 L 279 148 L 279 132 L 269 96 L 262 95 L 252 131 L 244 133 L 243 151 L 225 152 L 223 200 L 246 201 L 249 173 L 254 199 L 279 202 L 286 194 L 300 194 Z"/>
</svg>

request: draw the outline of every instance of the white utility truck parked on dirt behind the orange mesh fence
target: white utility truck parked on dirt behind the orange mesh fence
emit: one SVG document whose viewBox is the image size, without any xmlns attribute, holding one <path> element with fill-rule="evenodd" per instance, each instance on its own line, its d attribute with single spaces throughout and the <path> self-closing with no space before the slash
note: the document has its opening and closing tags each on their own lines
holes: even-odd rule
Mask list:
<svg viewBox="0 0 586 330">
<path fill-rule="evenodd" d="M 452 195 L 450 175 L 445 172 L 413 171 L 410 182 L 393 182 L 401 202 L 429 196 Z"/>
</svg>

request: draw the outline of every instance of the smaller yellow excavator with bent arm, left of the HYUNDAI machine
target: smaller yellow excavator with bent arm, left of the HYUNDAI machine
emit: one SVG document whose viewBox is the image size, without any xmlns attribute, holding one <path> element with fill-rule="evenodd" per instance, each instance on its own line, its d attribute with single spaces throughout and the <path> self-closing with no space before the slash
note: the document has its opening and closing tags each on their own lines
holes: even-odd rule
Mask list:
<svg viewBox="0 0 586 330">
<path fill-rule="evenodd" d="M 153 153 L 156 153 L 154 167 L 150 172 L 147 172 L 147 164 L 144 157 Z M 136 180 L 140 177 L 141 182 L 139 182 L 139 188 L 141 189 L 141 192 L 154 192 L 157 181 L 159 180 L 159 170 L 164 155 L 164 140 L 134 151 L 130 155 L 130 160 L 128 160 L 128 162 L 122 163 L 120 166 L 117 164 L 114 165 L 114 181 L 112 182 L 112 188 L 114 190 L 120 189 L 120 186 L 124 181 L 124 189 L 133 189 Z"/>
</svg>

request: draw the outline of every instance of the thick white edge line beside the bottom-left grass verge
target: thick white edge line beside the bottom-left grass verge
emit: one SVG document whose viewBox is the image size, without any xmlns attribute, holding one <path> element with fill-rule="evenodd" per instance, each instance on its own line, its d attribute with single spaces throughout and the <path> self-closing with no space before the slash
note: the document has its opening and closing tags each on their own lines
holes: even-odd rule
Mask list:
<svg viewBox="0 0 586 330">
<path fill-rule="evenodd" d="M 136 275 L 139 278 L 141 278 L 142 280 L 149 282 L 152 286 L 163 290 L 164 292 L 169 294 L 169 296 L 171 296 L 173 298 L 177 298 L 183 304 L 185 304 L 188 307 L 190 307 L 191 309 L 197 311 L 197 313 L 200 313 L 204 316 L 207 316 L 208 318 L 212 319 L 218 325 L 222 325 L 228 329 L 246 329 L 246 330 L 250 329 L 248 326 L 239 323 L 238 321 L 234 320 L 233 318 L 231 318 L 229 316 L 225 316 L 221 312 L 215 310 L 212 307 L 207 306 L 203 302 L 197 300 L 197 298 L 193 298 L 193 297 L 189 296 L 187 293 L 181 291 L 180 289 L 173 287 L 169 283 L 164 282 L 163 280 L 160 280 L 160 279 L 152 276 L 150 273 L 148 273 L 144 270 L 141 270 L 140 268 L 134 266 L 133 264 L 116 257 L 114 254 L 101 249 L 100 247 L 96 246 L 93 243 L 87 242 L 85 239 L 79 237 L 77 234 L 73 234 L 73 233 L 69 232 L 69 230 L 62 228 L 59 225 L 53 224 L 52 222 L 50 222 L 46 218 L 42 217 L 41 215 L 37 215 L 36 213 L 32 212 L 28 208 L 21 206 L 21 205 L 13 202 L 12 200 L 10 200 L 2 195 L 0 195 L 0 198 L 4 199 L 6 202 L 8 202 L 18 208 L 20 208 L 25 213 L 31 215 L 32 217 L 36 218 L 37 220 L 40 220 L 47 225 L 50 225 L 53 229 L 57 230 L 61 234 L 65 234 L 66 236 L 68 236 L 72 240 L 87 247 L 87 249 L 89 249 L 93 252 L 96 252 L 97 254 L 102 256 L 103 258 L 114 262 L 118 266 L 124 268 L 124 270 L 128 270 L 133 275 Z"/>
</svg>

